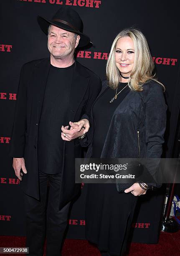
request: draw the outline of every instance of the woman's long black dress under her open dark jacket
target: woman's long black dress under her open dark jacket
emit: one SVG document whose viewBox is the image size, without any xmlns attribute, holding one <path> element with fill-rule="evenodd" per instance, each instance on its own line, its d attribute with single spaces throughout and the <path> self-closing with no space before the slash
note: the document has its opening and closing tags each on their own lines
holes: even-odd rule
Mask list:
<svg viewBox="0 0 180 256">
<path fill-rule="evenodd" d="M 117 93 L 126 85 L 127 83 L 120 83 Z M 108 87 L 95 102 L 93 158 L 100 158 L 114 110 L 125 100 L 129 90 L 127 86 L 113 103 L 109 103 L 116 90 Z M 108 251 L 115 256 L 123 255 L 136 202 L 137 197 L 132 193 L 118 193 L 116 184 L 88 184 L 86 238 L 101 251 Z"/>
</svg>

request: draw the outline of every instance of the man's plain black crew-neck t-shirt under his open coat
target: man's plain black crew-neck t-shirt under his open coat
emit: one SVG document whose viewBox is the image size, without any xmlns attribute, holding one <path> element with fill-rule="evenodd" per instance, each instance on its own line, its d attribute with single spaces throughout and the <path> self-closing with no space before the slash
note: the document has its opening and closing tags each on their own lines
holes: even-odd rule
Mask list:
<svg viewBox="0 0 180 256">
<path fill-rule="evenodd" d="M 51 65 L 38 133 L 38 167 L 48 174 L 61 173 L 63 140 L 61 126 L 68 108 L 74 64 L 66 68 Z"/>
</svg>

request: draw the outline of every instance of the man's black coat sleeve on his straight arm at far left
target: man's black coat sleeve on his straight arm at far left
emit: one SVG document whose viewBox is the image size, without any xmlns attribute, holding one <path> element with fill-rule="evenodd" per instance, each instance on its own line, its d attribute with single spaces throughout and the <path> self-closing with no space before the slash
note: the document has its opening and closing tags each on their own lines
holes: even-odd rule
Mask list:
<svg viewBox="0 0 180 256">
<path fill-rule="evenodd" d="M 23 65 L 20 72 L 13 131 L 10 142 L 10 156 L 15 158 L 22 158 L 24 156 L 27 108 L 26 84 L 24 77 L 25 74 Z"/>
</svg>

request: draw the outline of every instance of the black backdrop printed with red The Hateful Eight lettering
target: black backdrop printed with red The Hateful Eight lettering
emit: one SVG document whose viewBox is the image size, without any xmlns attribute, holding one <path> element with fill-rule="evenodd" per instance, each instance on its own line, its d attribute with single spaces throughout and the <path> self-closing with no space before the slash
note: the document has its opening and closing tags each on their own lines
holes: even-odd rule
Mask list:
<svg viewBox="0 0 180 256">
<path fill-rule="evenodd" d="M 147 37 L 158 79 L 165 84 L 168 105 L 164 157 L 172 156 L 180 104 L 180 30 L 177 1 L 158 0 L 1 0 L 0 1 L 0 235 L 24 236 L 25 215 L 20 182 L 8 155 L 21 66 L 49 56 L 47 37 L 37 15 L 50 18 L 61 5 L 71 6 L 84 22 L 93 46 L 77 52 L 77 61 L 103 80 L 112 42 L 124 28 Z M 85 238 L 86 184 L 71 209 L 68 238 Z M 157 243 L 164 189 L 139 197 L 132 223 L 132 241 Z M 124 205 L 126 207 L 126 205 Z M 121 216 L 119 216 L 121 218 Z"/>
</svg>

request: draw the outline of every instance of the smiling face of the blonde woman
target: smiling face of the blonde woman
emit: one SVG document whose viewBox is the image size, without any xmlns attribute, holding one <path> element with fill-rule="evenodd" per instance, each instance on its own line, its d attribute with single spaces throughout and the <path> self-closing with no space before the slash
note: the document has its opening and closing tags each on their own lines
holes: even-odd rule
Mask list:
<svg viewBox="0 0 180 256">
<path fill-rule="evenodd" d="M 117 41 L 115 62 L 122 76 L 129 77 L 134 67 L 134 44 L 129 36 Z"/>
</svg>

